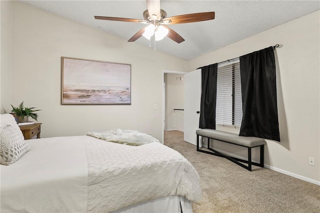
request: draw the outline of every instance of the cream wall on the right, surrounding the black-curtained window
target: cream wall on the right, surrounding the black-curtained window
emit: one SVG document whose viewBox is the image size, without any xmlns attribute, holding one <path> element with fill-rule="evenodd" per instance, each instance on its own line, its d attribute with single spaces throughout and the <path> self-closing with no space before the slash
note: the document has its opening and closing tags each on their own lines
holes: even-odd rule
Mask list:
<svg viewBox="0 0 320 213">
<path fill-rule="evenodd" d="M 276 43 L 277 99 L 281 142 L 267 140 L 265 164 L 286 174 L 320 181 L 319 11 L 188 61 L 196 67 L 232 59 Z M 238 132 L 237 129 L 227 131 Z M 233 147 L 219 148 L 234 151 Z M 256 155 L 254 155 L 256 157 Z M 315 158 L 315 167 L 308 165 Z M 301 176 L 301 177 L 299 177 Z"/>
</svg>

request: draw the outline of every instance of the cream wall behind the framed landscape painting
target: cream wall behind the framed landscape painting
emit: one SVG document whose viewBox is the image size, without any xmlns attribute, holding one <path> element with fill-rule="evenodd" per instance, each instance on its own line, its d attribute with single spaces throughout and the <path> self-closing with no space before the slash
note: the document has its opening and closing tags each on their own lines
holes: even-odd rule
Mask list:
<svg viewBox="0 0 320 213">
<path fill-rule="evenodd" d="M 42 137 L 122 128 L 161 140 L 162 70 L 184 71 L 184 60 L 22 2 L 12 4 L 12 105 L 24 101 L 41 109 Z M 61 56 L 131 64 L 131 105 L 61 105 Z"/>
</svg>

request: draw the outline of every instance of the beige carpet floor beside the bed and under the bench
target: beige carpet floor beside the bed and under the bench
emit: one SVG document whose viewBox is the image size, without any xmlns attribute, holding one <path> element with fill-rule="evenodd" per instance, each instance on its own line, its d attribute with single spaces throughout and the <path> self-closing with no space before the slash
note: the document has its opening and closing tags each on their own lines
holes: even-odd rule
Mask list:
<svg viewBox="0 0 320 213">
<path fill-rule="evenodd" d="M 196 152 L 183 132 L 165 131 L 164 144 L 181 153 L 200 176 L 201 205 L 193 213 L 320 213 L 320 186 L 253 166 L 252 172 Z"/>
</svg>

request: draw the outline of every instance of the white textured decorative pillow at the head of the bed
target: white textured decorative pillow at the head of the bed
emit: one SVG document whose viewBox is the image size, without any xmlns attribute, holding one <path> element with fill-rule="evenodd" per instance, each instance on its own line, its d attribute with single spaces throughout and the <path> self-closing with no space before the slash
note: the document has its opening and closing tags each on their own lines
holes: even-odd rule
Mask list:
<svg viewBox="0 0 320 213">
<path fill-rule="evenodd" d="M 22 132 L 11 114 L 0 115 L 0 163 L 10 165 L 30 150 Z"/>
</svg>

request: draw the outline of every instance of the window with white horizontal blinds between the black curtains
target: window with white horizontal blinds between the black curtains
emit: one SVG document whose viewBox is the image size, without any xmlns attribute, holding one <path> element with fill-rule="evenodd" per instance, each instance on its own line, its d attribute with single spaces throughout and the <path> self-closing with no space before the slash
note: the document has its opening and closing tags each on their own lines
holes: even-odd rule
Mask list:
<svg viewBox="0 0 320 213">
<path fill-rule="evenodd" d="M 215 123 L 240 126 L 242 99 L 239 60 L 218 64 Z"/>
</svg>

